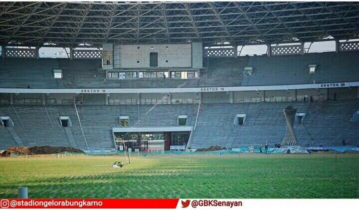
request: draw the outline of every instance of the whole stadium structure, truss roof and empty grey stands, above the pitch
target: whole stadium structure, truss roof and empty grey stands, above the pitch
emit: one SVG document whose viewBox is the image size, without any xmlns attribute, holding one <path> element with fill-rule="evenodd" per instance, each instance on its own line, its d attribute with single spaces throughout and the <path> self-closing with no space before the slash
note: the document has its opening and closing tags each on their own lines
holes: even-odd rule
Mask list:
<svg viewBox="0 0 359 210">
<path fill-rule="evenodd" d="M 359 144 L 358 2 L 8 3 L 0 149 L 274 146 L 289 105 L 299 145 Z M 238 56 L 250 44 L 267 53 Z M 51 46 L 68 58 L 39 58 Z"/>
</svg>

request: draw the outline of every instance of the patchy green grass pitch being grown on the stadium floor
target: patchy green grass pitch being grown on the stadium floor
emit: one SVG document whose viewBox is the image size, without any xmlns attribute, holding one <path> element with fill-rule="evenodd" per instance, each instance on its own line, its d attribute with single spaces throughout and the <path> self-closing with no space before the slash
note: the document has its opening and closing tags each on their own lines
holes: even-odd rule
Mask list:
<svg viewBox="0 0 359 210">
<path fill-rule="evenodd" d="M 182 154 L 0 159 L 0 198 L 359 198 L 359 155 Z M 2 174 L 3 167 L 3 174 Z"/>
</svg>

